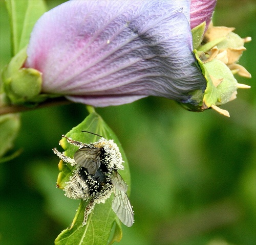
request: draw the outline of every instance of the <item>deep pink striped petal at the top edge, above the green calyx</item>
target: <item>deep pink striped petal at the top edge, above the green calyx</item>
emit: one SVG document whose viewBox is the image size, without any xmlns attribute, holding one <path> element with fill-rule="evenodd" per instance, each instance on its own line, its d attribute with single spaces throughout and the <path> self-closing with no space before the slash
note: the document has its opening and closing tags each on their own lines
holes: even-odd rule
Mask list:
<svg viewBox="0 0 256 245">
<path fill-rule="evenodd" d="M 190 27 L 193 29 L 206 21 L 206 29 L 211 21 L 217 0 L 191 0 Z"/>
</svg>

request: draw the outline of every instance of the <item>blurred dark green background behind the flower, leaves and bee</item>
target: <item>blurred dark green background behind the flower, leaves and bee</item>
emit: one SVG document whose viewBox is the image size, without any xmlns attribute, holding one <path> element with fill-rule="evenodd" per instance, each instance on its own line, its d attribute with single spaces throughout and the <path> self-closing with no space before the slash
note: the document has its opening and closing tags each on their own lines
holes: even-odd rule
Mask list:
<svg viewBox="0 0 256 245">
<path fill-rule="evenodd" d="M 52 8 L 63 1 L 47 1 Z M 216 26 L 251 36 L 240 59 L 252 79 L 238 99 L 215 111 L 188 112 L 174 101 L 148 97 L 96 111 L 115 131 L 129 159 L 135 224 L 123 226 L 117 244 L 256 243 L 255 1 L 218 1 Z M 9 20 L 1 0 L 1 68 L 11 56 Z M 0 165 L 1 244 L 53 244 L 73 219 L 79 201 L 55 187 L 58 159 L 52 148 L 79 124 L 83 105 L 22 113 L 13 152 Z"/>
</svg>

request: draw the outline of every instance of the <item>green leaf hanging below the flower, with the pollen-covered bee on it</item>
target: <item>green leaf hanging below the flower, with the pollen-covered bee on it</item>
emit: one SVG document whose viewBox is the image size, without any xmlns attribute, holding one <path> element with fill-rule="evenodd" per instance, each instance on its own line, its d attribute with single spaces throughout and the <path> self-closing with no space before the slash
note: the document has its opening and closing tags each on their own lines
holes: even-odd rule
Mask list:
<svg viewBox="0 0 256 245">
<path fill-rule="evenodd" d="M 118 145 L 124 160 L 124 170 L 119 170 L 119 174 L 130 187 L 130 171 L 127 164 L 127 159 L 114 132 L 108 127 L 108 125 L 105 124 L 103 119 L 96 112 L 91 112 L 90 115 L 81 122 L 81 124 L 73 128 L 66 135 L 71 137 L 73 140 L 83 143 L 98 141 L 98 136 L 81 132 L 83 130 L 99 134 L 106 139 L 114 140 L 114 142 Z M 66 150 L 65 155 L 72 158 L 74 153 L 78 150 L 77 146 L 69 144 L 65 138 L 60 140 L 60 145 L 64 150 Z M 68 163 L 60 161 L 59 170 L 60 173 L 58 176 L 57 185 L 60 188 L 64 188 L 65 182 L 69 181 L 69 177 L 72 175 L 73 167 L 71 167 Z M 82 222 L 84 210 L 87 207 L 88 201 L 81 201 L 71 228 L 62 231 L 56 238 L 55 244 L 108 244 L 111 230 L 115 223 L 117 223 L 116 231 L 111 242 L 120 240 L 122 236 L 120 222 L 112 210 L 112 200 L 113 194 L 108 200 L 106 200 L 104 204 L 96 204 L 93 212 L 89 215 L 87 224 L 85 226 L 82 226 Z"/>
</svg>

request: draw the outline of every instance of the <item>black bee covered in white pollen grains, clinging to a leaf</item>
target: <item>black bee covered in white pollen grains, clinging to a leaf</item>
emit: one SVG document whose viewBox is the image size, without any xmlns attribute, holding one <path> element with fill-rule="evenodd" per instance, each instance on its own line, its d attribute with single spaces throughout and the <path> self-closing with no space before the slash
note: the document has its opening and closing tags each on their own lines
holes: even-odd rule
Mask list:
<svg viewBox="0 0 256 245">
<path fill-rule="evenodd" d="M 113 140 L 97 136 L 101 137 L 97 142 L 86 144 L 62 135 L 69 143 L 78 146 L 74 158 L 65 156 L 56 148 L 53 149 L 62 161 L 75 166 L 73 175 L 66 182 L 65 195 L 71 199 L 90 199 L 82 223 L 86 225 L 95 205 L 104 203 L 114 192 L 112 209 L 125 226 L 131 227 L 134 223 L 134 213 L 126 193 L 128 187 L 117 171 L 123 169 L 121 153 Z"/>
</svg>

